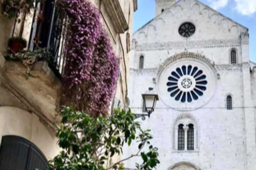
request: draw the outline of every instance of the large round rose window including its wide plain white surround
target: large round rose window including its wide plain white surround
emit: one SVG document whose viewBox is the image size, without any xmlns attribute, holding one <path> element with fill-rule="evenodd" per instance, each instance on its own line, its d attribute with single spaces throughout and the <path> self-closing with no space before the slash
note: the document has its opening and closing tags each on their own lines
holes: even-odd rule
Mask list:
<svg viewBox="0 0 256 170">
<path fill-rule="evenodd" d="M 216 78 L 207 63 L 188 59 L 167 64 L 157 86 L 159 97 L 167 106 L 187 111 L 202 107 L 212 98 Z"/>
</svg>

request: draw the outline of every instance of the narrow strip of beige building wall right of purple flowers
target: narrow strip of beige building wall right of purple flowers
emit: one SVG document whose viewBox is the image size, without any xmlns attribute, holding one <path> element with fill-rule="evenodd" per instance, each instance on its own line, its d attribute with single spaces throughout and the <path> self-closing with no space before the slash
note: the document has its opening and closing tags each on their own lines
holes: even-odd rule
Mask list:
<svg viewBox="0 0 256 170">
<path fill-rule="evenodd" d="M 116 56 L 120 59 L 120 74 L 119 80 L 117 82 L 117 88 L 115 93 L 115 98 L 121 100 L 124 108 L 127 108 L 126 105 L 126 96 L 127 96 L 127 86 L 129 80 L 129 56 L 130 51 L 127 51 L 127 41 L 126 35 L 130 34 L 130 45 L 132 41 L 132 32 L 133 32 L 133 15 L 134 15 L 134 4 L 133 0 L 121 0 L 120 6 L 128 23 L 129 29 L 122 33 L 118 34 L 113 26 L 112 19 L 106 9 L 102 0 L 92 0 L 91 2 L 101 11 L 102 14 L 102 25 L 106 29 L 107 33 L 110 35 L 111 44 Z"/>
</svg>

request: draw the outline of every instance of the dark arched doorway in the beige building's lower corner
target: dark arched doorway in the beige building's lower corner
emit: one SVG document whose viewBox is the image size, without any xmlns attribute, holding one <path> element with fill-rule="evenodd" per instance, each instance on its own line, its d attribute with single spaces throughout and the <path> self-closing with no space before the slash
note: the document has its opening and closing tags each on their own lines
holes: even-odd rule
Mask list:
<svg viewBox="0 0 256 170">
<path fill-rule="evenodd" d="M 47 159 L 30 141 L 18 136 L 3 136 L 0 147 L 1 170 L 46 169 Z"/>
</svg>

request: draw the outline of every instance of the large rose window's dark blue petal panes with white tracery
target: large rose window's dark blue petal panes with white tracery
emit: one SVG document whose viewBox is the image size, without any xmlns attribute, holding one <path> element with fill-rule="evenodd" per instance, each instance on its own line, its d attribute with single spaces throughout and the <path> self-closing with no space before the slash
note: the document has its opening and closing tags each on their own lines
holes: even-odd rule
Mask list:
<svg viewBox="0 0 256 170">
<path fill-rule="evenodd" d="M 198 100 L 206 91 L 207 80 L 204 72 L 196 66 L 177 67 L 167 81 L 167 91 L 176 101 Z"/>
</svg>

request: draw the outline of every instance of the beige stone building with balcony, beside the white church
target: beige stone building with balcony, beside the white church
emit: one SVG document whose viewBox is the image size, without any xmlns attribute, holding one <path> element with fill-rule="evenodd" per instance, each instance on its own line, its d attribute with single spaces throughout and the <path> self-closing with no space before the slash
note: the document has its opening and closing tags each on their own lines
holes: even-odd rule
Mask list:
<svg viewBox="0 0 256 170">
<path fill-rule="evenodd" d="M 58 25 L 54 24 L 58 23 L 59 16 L 57 8 L 52 6 L 53 2 L 46 0 L 44 5 L 38 4 L 38 9 L 32 12 L 33 15 L 27 16 L 22 37 L 27 39 L 30 50 L 33 50 L 34 46 L 32 40 L 42 41 L 42 47 L 46 47 L 49 52 L 55 52 L 56 64 L 52 67 L 47 62 L 36 62 L 32 68 L 32 75 L 27 79 L 24 76 L 27 69 L 21 62 L 5 59 L 8 39 L 15 36 L 21 26 L 15 19 L 0 16 L 1 170 L 44 168 L 47 160 L 59 152 L 55 128 L 60 120 L 56 105 L 58 89 L 61 86 L 59 78 L 62 74 L 62 65 L 57 63 L 61 63 L 64 59 L 61 58 L 63 45 L 62 33 L 59 31 L 61 29 L 56 29 Z M 137 0 L 92 0 L 91 2 L 99 9 L 103 27 L 108 32 L 114 52 L 121 61 L 115 99 L 111 106 L 126 108 L 129 104 L 127 86 L 130 35 L 133 14 L 137 10 Z M 40 20 L 41 14 L 43 20 Z M 57 32 L 54 32 L 55 30 Z"/>
</svg>

